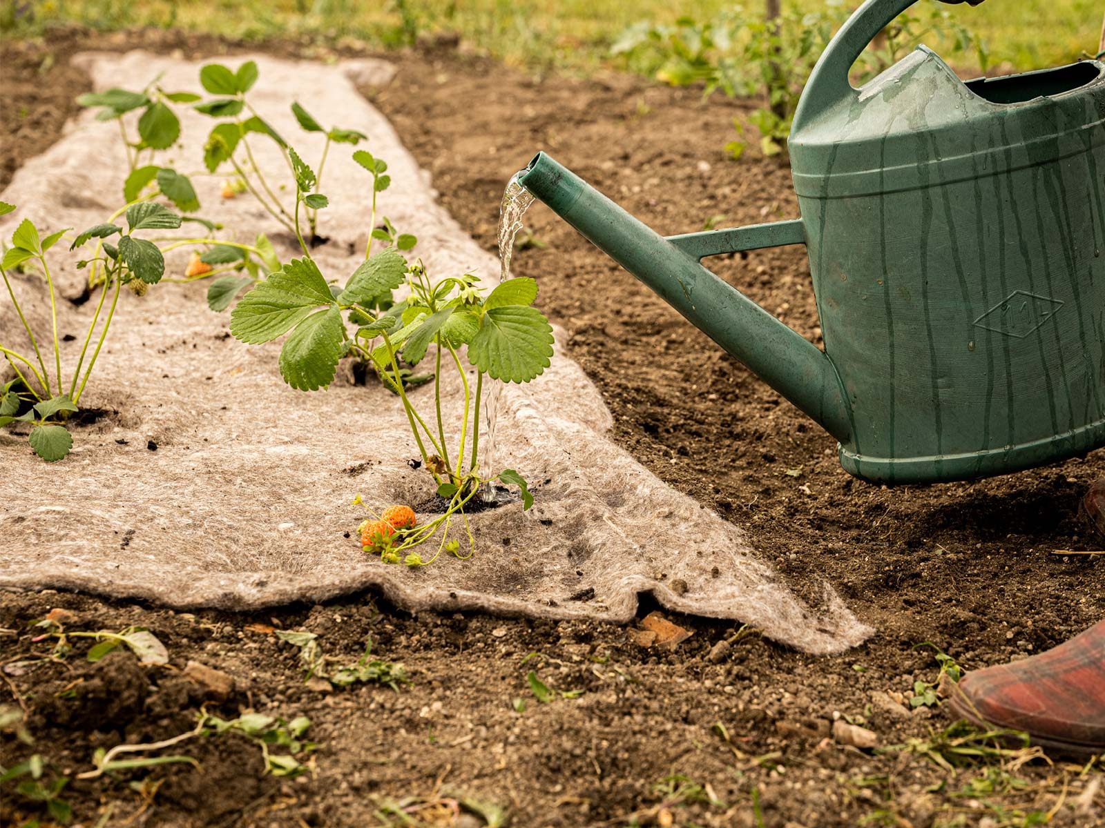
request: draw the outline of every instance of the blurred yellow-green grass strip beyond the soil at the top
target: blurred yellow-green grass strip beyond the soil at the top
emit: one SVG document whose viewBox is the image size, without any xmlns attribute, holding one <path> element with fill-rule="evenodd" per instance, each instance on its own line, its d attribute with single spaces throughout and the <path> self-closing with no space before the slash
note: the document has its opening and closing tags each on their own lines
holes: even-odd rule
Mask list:
<svg viewBox="0 0 1105 828">
<path fill-rule="evenodd" d="M 823 2 L 783 0 L 783 6 L 809 10 Z M 610 45 L 632 23 L 671 23 L 684 15 L 707 20 L 734 6 L 725 0 L 0 0 L 0 31 L 21 38 L 61 23 L 107 31 L 176 26 L 245 40 L 311 35 L 389 46 L 456 32 L 514 65 L 588 72 L 609 62 Z M 762 2 L 744 6 L 758 10 Z M 953 8 L 986 40 L 992 65 L 1041 68 L 1097 47 L 1101 0 L 989 0 Z"/>
</svg>

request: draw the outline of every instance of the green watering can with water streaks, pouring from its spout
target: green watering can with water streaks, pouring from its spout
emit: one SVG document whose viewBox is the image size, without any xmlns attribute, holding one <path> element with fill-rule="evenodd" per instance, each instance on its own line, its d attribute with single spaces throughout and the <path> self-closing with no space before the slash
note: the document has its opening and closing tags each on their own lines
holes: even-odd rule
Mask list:
<svg viewBox="0 0 1105 828">
<path fill-rule="evenodd" d="M 1105 64 L 961 82 L 919 46 L 849 70 L 914 0 L 867 0 L 790 135 L 802 217 L 664 238 L 539 153 L 518 181 L 886 484 L 1105 445 Z M 804 244 L 825 350 L 699 264 Z"/>
</svg>

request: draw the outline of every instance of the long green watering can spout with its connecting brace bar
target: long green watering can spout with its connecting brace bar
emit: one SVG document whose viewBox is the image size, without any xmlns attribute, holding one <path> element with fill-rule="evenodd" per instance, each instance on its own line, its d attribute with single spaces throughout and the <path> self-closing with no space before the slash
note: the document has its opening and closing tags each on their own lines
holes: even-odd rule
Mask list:
<svg viewBox="0 0 1105 828">
<path fill-rule="evenodd" d="M 544 152 L 518 183 L 836 439 L 849 442 L 849 406 L 829 357 L 699 264 L 719 253 L 801 244 L 801 220 L 665 238 Z"/>
</svg>

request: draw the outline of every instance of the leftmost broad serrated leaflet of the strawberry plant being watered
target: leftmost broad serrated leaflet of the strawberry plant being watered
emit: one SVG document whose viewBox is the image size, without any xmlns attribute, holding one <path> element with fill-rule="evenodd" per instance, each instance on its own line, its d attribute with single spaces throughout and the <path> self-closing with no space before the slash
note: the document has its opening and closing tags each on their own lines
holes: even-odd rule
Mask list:
<svg viewBox="0 0 1105 828">
<path fill-rule="evenodd" d="M 318 265 L 309 258 L 293 258 L 242 297 L 231 311 L 230 332 L 243 342 L 269 342 L 315 308 L 333 304 Z"/>
</svg>

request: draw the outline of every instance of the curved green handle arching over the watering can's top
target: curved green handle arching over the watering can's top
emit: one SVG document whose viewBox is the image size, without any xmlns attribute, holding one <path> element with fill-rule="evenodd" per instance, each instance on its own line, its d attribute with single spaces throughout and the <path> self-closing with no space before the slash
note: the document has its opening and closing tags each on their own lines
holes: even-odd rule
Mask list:
<svg viewBox="0 0 1105 828">
<path fill-rule="evenodd" d="M 941 0 L 956 4 L 964 0 Z M 883 29 L 917 0 L 866 0 L 840 28 L 818 60 L 794 113 L 794 127 L 804 125 L 825 109 L 856 96 L 848 79 L 852 64 Z M 966 0 L 978 6 L 982 0 Z"/>
</svg>

